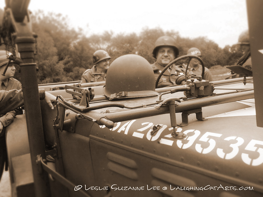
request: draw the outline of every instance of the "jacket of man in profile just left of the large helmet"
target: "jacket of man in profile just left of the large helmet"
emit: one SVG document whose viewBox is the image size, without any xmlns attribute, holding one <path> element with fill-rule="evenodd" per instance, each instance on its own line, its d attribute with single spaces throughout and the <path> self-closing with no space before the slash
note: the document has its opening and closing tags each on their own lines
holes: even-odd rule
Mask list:
<svg viewBox="0 0 263 197">
<path fill-rule="evenodd" d="M 105 72 L 98 72 L 95 65 L 92 69 L 87 69 L 81 78 L 80 83 L 90 83 L 90 82 L 98 82 L 98 81 L 105 81 L 106 73 Z"/>
</svg>

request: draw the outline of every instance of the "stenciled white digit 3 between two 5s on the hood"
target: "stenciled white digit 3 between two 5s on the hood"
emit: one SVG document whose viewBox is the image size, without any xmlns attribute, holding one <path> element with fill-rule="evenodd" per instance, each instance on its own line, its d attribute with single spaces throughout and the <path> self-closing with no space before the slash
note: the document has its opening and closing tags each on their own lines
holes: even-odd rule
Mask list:
<svg viewBox="0 0 263 197">
<path fill-rule="evenodd" d="M 223 159 L 232 159 L 234 158 L 237 154 L 238 154 L 238 151 L 239 151 L 239 146 L 242 145 L 244 143 L 244 139 L 241 138 L 241 137 L 237 137 L 237 136 L 230 136 L 230 137 L 227 137 L 225 138 L 224 140 L 237 140 L 237 143 L 235 144 L 230 144 L 229 146 L 233 148 L 232 152 L 231 153 L 227 153 L 225 154 L 223 152 L 223 149 L 222 148 L 218 148 L 216 150 L 216 153 L 219 157 L 223 158 Z"/>
</svg>

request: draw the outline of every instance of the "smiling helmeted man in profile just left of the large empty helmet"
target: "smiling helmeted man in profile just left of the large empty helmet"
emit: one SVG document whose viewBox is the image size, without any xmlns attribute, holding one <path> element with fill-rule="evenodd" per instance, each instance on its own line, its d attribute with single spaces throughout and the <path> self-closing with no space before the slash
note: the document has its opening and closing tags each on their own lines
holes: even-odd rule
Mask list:
<svg viewBox="0 0 263 197">
<path fill-rule="evenodd" d="M 106 72 L 109 68 L 109 59 L 111 57 L 106 51 L 98 50 L 93 54 L 93 64 L 92 69 L 87 69 L 81 78 L 80 83 L 90 83 L 105 81 Z"/>
</svg>

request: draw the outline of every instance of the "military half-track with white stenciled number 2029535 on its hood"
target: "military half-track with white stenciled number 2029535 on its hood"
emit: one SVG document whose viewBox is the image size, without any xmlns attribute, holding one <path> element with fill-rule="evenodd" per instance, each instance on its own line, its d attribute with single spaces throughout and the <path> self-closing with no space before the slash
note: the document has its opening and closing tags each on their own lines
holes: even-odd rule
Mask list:
<svg viewBox="0 0 263 197">
<path fill-rule="evenodd" d="M 12 196 L 263 196 L 263 54 L 257 53 L 263 39 L 250 22 L 260 13 L 253 1 L 253 78 L 209 82 L 198 76 L 184 86 L 155 89 L 153 72 L 144 78 L 134 69 L 136 79 L 117 81 L 114 87 L 126 88 L 118 92 L 109 90 L 110 80 L 50 91 L 57 96 L 54 110 L 37 97 L 29 16 L 8 2 L 3 28 L 15 35 L 23 61 L 26 111 L 6 128 Z M 107 77 L 114 64 L 127 76 L 132 63 L 149 69 L 142 59 L 117 58 Z M 138 82 L 147 90 L 133 89 Z"/>
</svg>

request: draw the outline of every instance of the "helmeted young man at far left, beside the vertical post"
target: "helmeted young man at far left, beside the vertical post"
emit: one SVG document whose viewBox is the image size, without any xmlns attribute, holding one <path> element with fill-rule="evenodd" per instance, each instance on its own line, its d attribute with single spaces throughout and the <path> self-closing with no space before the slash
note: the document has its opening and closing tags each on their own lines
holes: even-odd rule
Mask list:
<svg viewBox="0 0 263 197">
<path fill-rule="evenodd" d="M 7 55 L 12 55 L 12 53 L 6 51 L 0 51 L 0 90 L 20 90 L 22 89 L 21 83 L 13 78 L 15 75 L 15 66 L 13 62 L 9 64 L 9 67 L 7 68 L 5 72 L 5 76 L 3 76 L 3 72 L 5 70 L 5 67 L 7 66 L 7 63 L 9 59 L 7 59 Z M 0 115 L 0 133 L 3 130 L 4 127 L 7 127 L 13 120 L 14 117 L 16 116 L 16 111 L 10 111 L 6 114 L 1 114 Z"/>
</svg>

